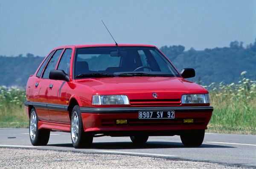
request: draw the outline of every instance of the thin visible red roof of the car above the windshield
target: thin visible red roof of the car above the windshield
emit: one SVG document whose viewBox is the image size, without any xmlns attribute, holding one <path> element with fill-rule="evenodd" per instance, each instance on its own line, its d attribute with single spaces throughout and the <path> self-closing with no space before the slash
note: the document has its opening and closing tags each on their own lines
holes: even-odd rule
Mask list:
<svg viewBox="0 0 256 169">
<path fill-rule="evenodd" d="M 104 47 L 104 46 L 116 46 L 116 44 L 81 44 L 81 45 L 67 45 L 67 46 L 59 46 L 55 49 L 61 48 L 86 48 L 86 47 Z M 143 44 L 118 44 L 118 46 L 144 46 L 144 47 L 155 47 L 154 45 L 143 45 Z"/>
</svg>

